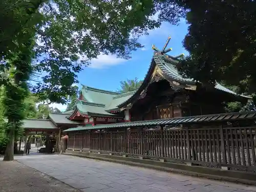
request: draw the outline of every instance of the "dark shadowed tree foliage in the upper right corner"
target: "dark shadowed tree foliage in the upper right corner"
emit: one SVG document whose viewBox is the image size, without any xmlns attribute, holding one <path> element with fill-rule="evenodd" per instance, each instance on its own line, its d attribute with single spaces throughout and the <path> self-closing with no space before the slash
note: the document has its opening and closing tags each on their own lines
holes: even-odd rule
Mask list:
<svg viewBox="0 0 256 192">
<path fill-rule="evenodd" d="M 256 2 L 172 2 L 184 13 L 175 16 L 186 15 L 189 24 L 183 45 L 190 55 L 180 72 L 205 84 L 223 80 L 240 93 L 255 93 Z"/>
</svg>

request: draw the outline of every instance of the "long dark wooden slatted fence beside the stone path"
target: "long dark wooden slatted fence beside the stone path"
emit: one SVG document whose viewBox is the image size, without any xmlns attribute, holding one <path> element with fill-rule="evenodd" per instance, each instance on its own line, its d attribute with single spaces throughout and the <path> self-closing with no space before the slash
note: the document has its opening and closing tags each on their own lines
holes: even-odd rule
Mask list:
<svg viewBox="0 0 256 192">
<path fill-rule="evenodd" d="M 77 132 L 69 134 L 68 150 L 108 152 L 206 166 L 256 167 L 256 127 Z"/>
</svg>

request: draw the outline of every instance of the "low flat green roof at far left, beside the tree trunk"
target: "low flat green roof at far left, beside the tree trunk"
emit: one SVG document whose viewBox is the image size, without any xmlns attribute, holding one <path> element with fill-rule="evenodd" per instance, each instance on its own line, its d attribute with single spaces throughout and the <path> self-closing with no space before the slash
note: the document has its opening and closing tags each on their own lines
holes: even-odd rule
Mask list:
<svg viewBox="0 0 256 192">
<path fill-rule="evenodd" d="M 42 129 L 42 130 L 51 130 L 57 129 L 51 120 L 49 119 L 25 119 L 23 120 L 22 127 L 26 129 Z"/>
</svg>

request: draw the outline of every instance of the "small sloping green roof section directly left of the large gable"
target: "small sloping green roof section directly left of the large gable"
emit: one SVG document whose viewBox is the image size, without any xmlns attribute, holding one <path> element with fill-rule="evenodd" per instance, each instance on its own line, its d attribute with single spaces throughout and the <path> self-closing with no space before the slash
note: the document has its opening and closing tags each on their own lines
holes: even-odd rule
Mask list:
<svg viewBox="0 0 256 192">
<path fill-rule="evenodd" d="M 130 97 L 134 95 L 134 93 L 136 93 L 136 91 L 137 90 L 113 97 L 110 105 L 106 107 L 106 111 L 118 111 L 118 105 L 127 101 Z"/>
</svg>

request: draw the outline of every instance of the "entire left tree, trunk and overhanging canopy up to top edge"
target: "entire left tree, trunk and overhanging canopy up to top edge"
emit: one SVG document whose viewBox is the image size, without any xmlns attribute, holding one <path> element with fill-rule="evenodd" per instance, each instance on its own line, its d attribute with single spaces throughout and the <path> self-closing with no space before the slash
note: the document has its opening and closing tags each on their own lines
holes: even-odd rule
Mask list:
<svg viewBox="0 0 256 192">
<path fill-rule="evenodd" d="M 0 6 L 2 18 L 8 22 L 0 28 L 0 53 L 5 57 L 1 71 L 13 67 L 13 80 L 1 78 L 6 93 L 4 117 L 8 119 L 4 160 L 13 160 L 13 142 L 25 118 L 27 81 L 32 72 L 42 74 L 41 81 L 30 87 L 39 100 L 67 103 L 82 65 L 101 53 L 129 58 L 131 51 L 142 47 L 138 35 L 159 26 L 150 17 L 155 13 L 154 3 L 146 1 L 4 0 Z"/>
</svg>

